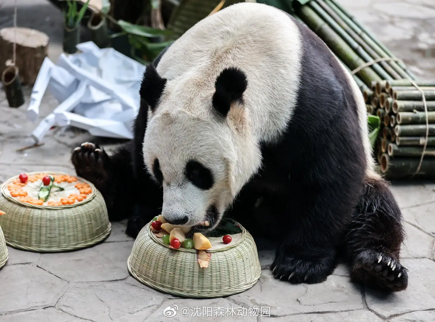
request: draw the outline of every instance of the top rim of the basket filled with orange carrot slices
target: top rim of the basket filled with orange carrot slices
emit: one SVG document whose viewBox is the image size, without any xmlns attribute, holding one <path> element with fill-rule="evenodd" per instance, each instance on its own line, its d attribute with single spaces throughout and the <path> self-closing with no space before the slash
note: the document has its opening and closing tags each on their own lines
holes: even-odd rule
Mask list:
<svg viewBox="0 0 435 322">
<path fill-rule="evenodd" d="M 39 173 L 47 173 L 47 174 L 52 174 L 52 175 L 56 175 L 56 174 L 61 174 L 61 175 L 67 175 L 67 176 L 71 176 L 71 174 L 66 173 L 66 172 L 61 172 L 61 171 L 32 171 L 32 172 L 26 172 L 27 175 L 35 175 L 35 174 L 39 174 Z M 80 206 L 84 203 L 88 203 L 90 202 L 90 200 L 94 199 L 94 197 L 97 195 L 97 189 L 95 188 L 94 184 L 91 183 L 90 181 L 80 177 L 80 176 L 76 176 L 77 179 L 80 179 L 80 181 L 83 181 L 85 183 L 87 183 L 91 188 L 92 188 L 92 192 L 88 195 L 88 197 L 86 197 L 86 199 L 84 199 L 83 201 L 80 201 L 78 203 L 73 203 L 72 205 L 62 205 L 62 206 L 45 206 L 45 205 L 33 205 L 31 203 L 25 203 L 22 202 L 14 197 L 9 196 L 6 193 L 6 188 L 7 185 L 9 183 L 11 183 L 13 180 L 19 179 L 20 175 L 17 176 L 12 176 L 10 177 L 8 180 L 6 180 L 5 182 L 3 182 L 0 186 L 0 191 L 3 195 L 3 197 L 5 197 L 5 199 L 10 200 L 14 203 L 17 203 L 20 206 L 25 206 L 25 207 L 29 207 L 29 208 L 36 208 L 36 209 L 48 209 L 48 210 L 63 210 L 65 208 L 73 208 L 73 207 L 77 207 Z"/>
</svg>

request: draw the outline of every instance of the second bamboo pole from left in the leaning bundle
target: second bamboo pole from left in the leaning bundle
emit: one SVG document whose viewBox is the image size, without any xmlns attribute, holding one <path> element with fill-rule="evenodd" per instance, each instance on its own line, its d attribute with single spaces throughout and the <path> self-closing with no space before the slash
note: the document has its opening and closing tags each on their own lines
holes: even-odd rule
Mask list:
<svg viewBox="0 0 435 322">
<path fill-rule="evenodd" d="M 323 0 L 316 0 L 308 2 L 318 14 L 325 19 L 325 21 L 339 34 L 352 49 L 360 55 L 365 61 L 372 61 L 376 58 L 381 58 L 376 52 L 365 43 L 361 37 L 358 36 L 345 22 L 331 9 Z M 325 15 L 325 16 L 323 16 Z M 378 73 L 381 78 L 397 79 L 400 75 L 391 68 L 385 61 L 378 64 L 373 64 L 373 69 Z"/>
</svg>

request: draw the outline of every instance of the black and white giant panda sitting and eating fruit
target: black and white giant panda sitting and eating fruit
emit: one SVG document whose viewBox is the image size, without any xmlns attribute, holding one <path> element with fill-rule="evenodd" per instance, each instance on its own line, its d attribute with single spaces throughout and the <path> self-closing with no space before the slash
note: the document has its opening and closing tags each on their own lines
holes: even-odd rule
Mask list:
<svg viewBox="0 0 435 322">
<path fill-rule="evenodd" d="M 356 282 L 407 287 L 402 214 L 375 172 L 361 92 L 307 27 L 228 6 L 147 65 L 139 94 L 134 139 L 71 157 L 127 234 L 158 214 L 200 232 L 234 217 L 277 241 L 275 278 L 319 283 L 344 257 Z"/>
</svg>

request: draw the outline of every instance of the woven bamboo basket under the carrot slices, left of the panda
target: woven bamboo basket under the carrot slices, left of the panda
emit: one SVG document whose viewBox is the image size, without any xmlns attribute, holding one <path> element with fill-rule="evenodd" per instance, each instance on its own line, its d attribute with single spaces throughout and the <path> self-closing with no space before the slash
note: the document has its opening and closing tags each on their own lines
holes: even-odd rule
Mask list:
<svg viewBox="0 0 435 322">
<path fill-rule="evenodd" d="M 40 173 L 40 172 L 39 172 Z M 66 175 L 46 172 L 48 175 Z M 27 173 L 35 175 L 37 172 Z M 62 206 L 46 206 L 24 203 L 10 196 L 8 184 L 14 176 L 0 186 L 0 226 L 6 244 L 25 251 L 61 252 L 90 247 L 103 241 L 111 225 L 104 198 L 95 186 L 83 178 L 78 183 L 87 183 L 92 192 L 78 203 Z"/>
</svg>

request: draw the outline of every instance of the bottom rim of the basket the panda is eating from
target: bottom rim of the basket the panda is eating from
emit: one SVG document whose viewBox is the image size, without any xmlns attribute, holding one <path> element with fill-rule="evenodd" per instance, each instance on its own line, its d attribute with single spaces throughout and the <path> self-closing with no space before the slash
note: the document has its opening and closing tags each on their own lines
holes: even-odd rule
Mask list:
<svg viewBox="0 0 435 322">
<path fill-rule="evenodd" d="M 221 298 L 224 296 L 229 296 L 229 295 L 234 295 L 234 294 L 238 294 L 244 291 L 247 291 L 249 288 L 253 287 L 255 284 L 257 284 L 258 280 L 261 277 L 261 266 L 258 266 L 258 272 L 257 274 L 254 276 L 253 278 L 253 282 L 250 284 L 246 284 L 243 285 L 243 287 L 241 288 L 237 288 L 237 289 L 228 289 L 225 291 L 216 291 L 216 292 L 197 292 L 197 293 L 193 293 L 193 292 L 182 292 L 182 291 L 176 291 L 172 288 L 167 288 L 161 285 L 157 285 L 154 283 L 151 283 L 150 281 L 147 281 L 143 278 L 141 278 L 140 276 L 138 276 L 132 269 L 131 264 L 131 254 L 130 256 L 128 256 L 127 259 L 127 268 L 129 273 L 139 282 L 141 282 L 144 285 L 147 285 L 151 288 L 154 288 L 157 291 L 162 291 L 171 295 L 175 295 L 175 296 L 182 296 L 185 298 Z"/>
</svg>

